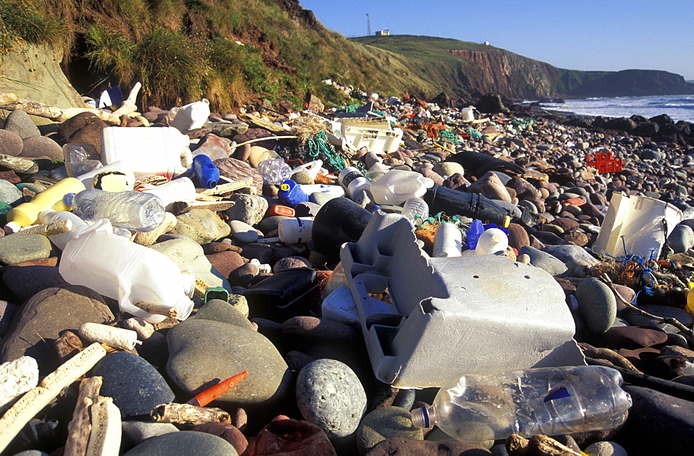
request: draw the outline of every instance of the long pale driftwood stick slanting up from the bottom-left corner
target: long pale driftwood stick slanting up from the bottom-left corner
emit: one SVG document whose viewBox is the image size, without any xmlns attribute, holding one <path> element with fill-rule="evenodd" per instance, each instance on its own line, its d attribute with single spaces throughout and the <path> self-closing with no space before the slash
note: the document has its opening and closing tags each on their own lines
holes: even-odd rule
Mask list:
<svg viewBox="0 0 694 456">
<path fill-rule="evenodd" d="M 92 344 L 71 360 L 58 367 L 35 388 L 12 405 L 0 418 L 0 453 L 19 434 L 24 425 L 46 407 L 60 391 L 87 373 L 106 354 L 101 344 Z"/>
</svg>

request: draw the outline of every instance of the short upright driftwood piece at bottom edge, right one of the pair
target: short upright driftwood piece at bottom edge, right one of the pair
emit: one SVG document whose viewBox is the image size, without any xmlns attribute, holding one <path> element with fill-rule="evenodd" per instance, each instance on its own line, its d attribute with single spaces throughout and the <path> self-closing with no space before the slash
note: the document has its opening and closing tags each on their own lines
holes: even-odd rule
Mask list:
<svg viewBox="0 0 694 456">
<path fill-rule="evenodd" d="M 92 432 L 86 456 L 118 456 L 121 448 L 121 411 L 112 398 L 99 396 L 92 405 Z"/>
</svg>

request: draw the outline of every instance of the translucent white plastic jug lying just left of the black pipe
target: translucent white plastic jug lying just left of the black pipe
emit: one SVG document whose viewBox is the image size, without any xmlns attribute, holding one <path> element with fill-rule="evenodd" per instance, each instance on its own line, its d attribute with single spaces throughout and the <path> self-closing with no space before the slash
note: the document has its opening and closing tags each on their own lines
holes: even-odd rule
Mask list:
<svg viewBox="0 0 694 456">
<path fill-rule="evenodd" d="M 371 183 L 370 191 L 376 204 L 404 203 L 410 198 L 423 196 L 434 181 L 414 171 L 391 169 Z"/>
</svg>

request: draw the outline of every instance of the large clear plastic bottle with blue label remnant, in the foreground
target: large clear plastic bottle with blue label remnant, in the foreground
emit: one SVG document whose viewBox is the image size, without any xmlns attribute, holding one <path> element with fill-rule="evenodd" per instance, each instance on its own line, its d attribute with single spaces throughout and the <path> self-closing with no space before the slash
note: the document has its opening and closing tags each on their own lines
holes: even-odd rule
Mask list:
<svg viewBox="0 0 694 456">
<path fill-rule="evenodd" d="M 609 429 L 632 405 L 620 385 L 620 373 L 603 366 L 464 375 L 443 385 L 434 405 L 414 410 L 412 423 L 470 442 Z"/>
</svg>

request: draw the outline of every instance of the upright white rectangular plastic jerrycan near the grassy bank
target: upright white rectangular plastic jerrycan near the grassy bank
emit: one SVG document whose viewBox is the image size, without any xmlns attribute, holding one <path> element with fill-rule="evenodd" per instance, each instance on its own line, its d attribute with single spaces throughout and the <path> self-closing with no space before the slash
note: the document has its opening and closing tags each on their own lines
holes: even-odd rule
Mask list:
<svg viewBox="0 0 694 456">
<path fill-rule="evenodd" d="M 101 162 L 130 162 L 136 178 L 171 179 L 192 165 L 190 140 L 174 127 L 106 127 L 101 130 Z"/>
</svg>

